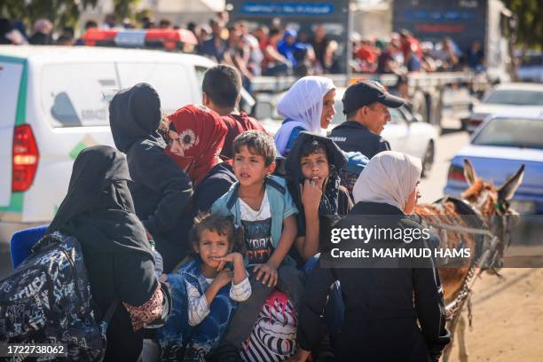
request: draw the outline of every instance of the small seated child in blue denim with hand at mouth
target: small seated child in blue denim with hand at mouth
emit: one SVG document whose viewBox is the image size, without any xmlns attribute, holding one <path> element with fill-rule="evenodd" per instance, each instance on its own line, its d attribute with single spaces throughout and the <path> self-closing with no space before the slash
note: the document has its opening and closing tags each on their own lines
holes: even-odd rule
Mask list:
<svg viewBox="0 0 543 362">
<path fill-rule="evenodd" d="M 173 307 L 157 331 L 163 361 L 204 361 L 223 337 L 236 302 L 251 295 L 243 256 L 232 251 L 241 241 L 232 220 L 197 216 L 191 241 L 198 257 L 167 277 Z"/>
</svg>

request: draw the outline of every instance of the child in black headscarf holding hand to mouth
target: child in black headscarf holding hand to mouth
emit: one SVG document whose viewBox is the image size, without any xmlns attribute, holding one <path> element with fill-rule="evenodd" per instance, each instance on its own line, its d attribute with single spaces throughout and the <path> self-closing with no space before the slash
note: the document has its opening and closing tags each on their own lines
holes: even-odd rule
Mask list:
<svg viewBox="0 0 543 362">
<path fill-rule="evenodd" d="M 298 264 L 304 264 L 320 252 L 322 216 L 343 216 L 352 209 L 349 192 L 340 185 L 338 175 L 346 162 L 333 140 L 305 131 L 300 132 L 288 153 L 288 191 L 300 210 L 295 240 L 297 253 L 293 253 Z"/>
</svg>

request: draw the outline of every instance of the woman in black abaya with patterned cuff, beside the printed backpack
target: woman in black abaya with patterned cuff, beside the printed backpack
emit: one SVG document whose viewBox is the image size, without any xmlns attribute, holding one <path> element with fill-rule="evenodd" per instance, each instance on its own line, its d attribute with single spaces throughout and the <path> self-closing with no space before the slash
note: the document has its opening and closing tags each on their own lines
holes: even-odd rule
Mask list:
<svg viewBox="0 0 543 362">
<path fill-rule="evenodd" d="M 109 146 L 84 149 L 46 232 L 75 236 L 81 244 L 97 320 L 115 299 L 121 302 L 107 329 L 110 361 L 137 360 L 142 327 L 161 319 L 167 309 L 146 232 L 134 214 L 129 180 L 122 153 Z"/>
</svg>

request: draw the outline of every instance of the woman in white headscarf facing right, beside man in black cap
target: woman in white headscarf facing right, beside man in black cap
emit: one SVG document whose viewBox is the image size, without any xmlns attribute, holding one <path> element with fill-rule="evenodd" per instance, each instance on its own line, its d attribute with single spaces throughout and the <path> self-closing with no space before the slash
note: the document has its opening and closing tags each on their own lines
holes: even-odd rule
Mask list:
<svg viewBox="0 0 543 362">
<path fill-rule="evenodd" d="M 323 76 L 304 76 L 279 100 L 277 110 L 285 118 L 275 134 L 279 154 L 287 156 L 302 130 L 321 133 L 335 114 L 335 86 Z"/>
</svg>

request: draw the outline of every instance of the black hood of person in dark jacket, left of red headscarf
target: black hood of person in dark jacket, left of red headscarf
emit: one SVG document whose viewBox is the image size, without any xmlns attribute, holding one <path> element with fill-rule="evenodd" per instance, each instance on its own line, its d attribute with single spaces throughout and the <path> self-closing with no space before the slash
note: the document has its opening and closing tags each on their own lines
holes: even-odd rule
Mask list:
<svg viewBox="0 0 543 362">
<path fill-rule="evenodd" d="M 109 104 L 109 125 L 115 146 L 122 153 L 143 140 L 164 148 L 157 132 L 160 123 L 161 99 L 150 84 L 138 83 L 119 91 Z"/>
</svg>

